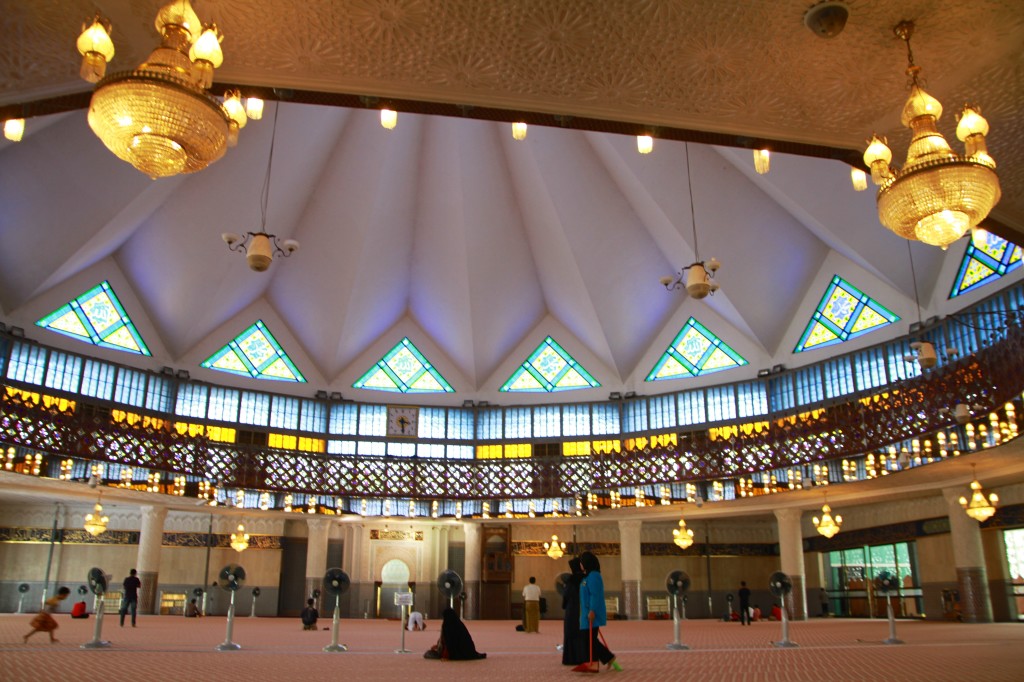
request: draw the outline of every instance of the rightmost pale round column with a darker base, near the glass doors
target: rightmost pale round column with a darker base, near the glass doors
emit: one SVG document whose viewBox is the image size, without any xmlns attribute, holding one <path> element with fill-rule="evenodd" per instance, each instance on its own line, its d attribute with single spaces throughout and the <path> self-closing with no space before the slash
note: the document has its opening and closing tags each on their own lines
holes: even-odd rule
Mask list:
<svg viewBox="0 0 1024 682">
<path fill-rule="evenodd" d="M 992 601 L 981 546 L 981 525 L 968 516 L 959 504 L 961 496 L 969 494 L 966 487 L 942 491 L 949 515 L 953 562 L 956 564 L 961 620 L 965 623 L 991 623 Z"/>
</svg>

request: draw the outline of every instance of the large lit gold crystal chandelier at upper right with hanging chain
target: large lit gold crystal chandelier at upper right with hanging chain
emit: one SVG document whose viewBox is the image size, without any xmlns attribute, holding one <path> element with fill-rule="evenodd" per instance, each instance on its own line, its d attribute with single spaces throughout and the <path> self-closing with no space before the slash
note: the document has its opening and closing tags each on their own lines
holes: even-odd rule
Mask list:
<svg viewBox="0 0 1024 682">
<path fill-rule="evenodd" d="M 988 122 L 977 106 L 965 106 L 956 126 L 965 154 L 955 154 L 936 128 L 942 105 L 919 82 L 921 68 L 910 51 L 913 23 L 900 22 L 893 32 L 906 43 L 910 97 L 900 122 L 913 136 L 902 168 L 889 165 L 892 151 L 878 135 L 868 141 L 864 163 L 880 185 L 882 224 L 904 239 L 945 249 L 976 227 L 999 201 L 995 161 L 985 145 Z"/>
</svg>

